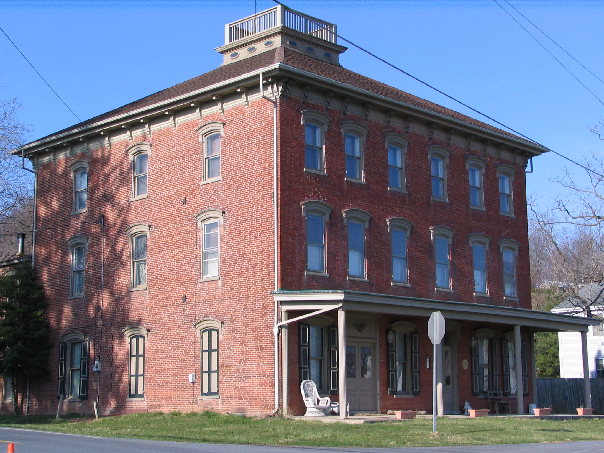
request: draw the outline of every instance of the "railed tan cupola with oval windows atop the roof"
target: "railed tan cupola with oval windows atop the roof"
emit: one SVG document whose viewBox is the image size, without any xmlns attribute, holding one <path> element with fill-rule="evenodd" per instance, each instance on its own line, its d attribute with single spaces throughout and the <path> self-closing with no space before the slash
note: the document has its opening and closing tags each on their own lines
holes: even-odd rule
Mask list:
<svg viewBox="0 0 604 453">
<path fill-rule="evenodd" d="M 337 43 L 336 26 L 283 5 L 225 25 L 225 45 L 216 48 L 223 65 L 274 50 L 288 48 L 339 65 L 347 48 Z"/>
</svg>

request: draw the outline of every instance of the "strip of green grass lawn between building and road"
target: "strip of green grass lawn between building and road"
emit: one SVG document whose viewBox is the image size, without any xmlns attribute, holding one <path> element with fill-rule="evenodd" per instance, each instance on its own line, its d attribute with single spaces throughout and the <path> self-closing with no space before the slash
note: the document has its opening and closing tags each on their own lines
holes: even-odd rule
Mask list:
<svg viewBox="0 0 604 453">
<path fill-rule="evenodd" d="M 0 416 L 0 426 L 69 432 L 71 434 L 177 442 L 240 443 L 304 446 L 435 446 L 495 443 L 604 440 L 604 419 L 540 420 L 513 418 L 344 423 L 306 422 L 281 418 L 249 419 L 216 413 L 149 413 L 107 417 L 91 422 L 67 422 L 50 416 Z"/>
</svg>

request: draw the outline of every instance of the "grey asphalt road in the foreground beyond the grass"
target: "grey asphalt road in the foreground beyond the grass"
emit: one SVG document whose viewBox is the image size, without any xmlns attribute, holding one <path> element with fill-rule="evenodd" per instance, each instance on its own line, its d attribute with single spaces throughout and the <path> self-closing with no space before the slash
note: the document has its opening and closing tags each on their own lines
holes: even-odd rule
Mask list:
<svg viewBox="0 0 604 453">
<path fill-rule="evenodd" d="M 604 441 L 422 448 L 270 447 L 117 439 L 0 428 L 0 452 L 8 442 L 14 443 L 15 453 L 604 453 Z"/>
</svg>

